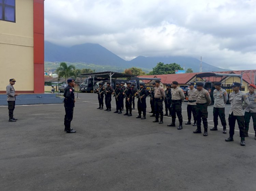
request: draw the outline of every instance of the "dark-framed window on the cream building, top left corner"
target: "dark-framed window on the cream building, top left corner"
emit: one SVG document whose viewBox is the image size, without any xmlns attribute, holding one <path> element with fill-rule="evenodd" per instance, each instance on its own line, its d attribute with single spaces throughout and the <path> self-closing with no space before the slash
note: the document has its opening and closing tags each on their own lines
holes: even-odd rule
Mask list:
<svg viewBox="0 0 256 191">
<path fill-rule="evenodd" d="M 15 22 L 15 0 L 0 0 L 0 20 Z"/>
</svg>

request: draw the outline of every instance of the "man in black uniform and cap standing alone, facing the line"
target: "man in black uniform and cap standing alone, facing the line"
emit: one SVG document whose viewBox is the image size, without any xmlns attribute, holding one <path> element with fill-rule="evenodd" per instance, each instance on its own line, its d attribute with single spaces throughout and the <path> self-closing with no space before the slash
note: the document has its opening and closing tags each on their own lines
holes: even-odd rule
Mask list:
<svg viewBox="0 0 256 191">
<path fill-rule="evenodd" d="M 73 87 L 75 86 L 75 81 L 73 79 L 68 79 L 68 86 L 64 90 L 64 107 L 66 111 L 65 119 L 64 119 L 64 125 L 67 133 L 75 133 L 72 128 L 70 128 L 71 121 L 73 119 L 73 111 L 75 106 L 75 94 Z"/>
</svg>

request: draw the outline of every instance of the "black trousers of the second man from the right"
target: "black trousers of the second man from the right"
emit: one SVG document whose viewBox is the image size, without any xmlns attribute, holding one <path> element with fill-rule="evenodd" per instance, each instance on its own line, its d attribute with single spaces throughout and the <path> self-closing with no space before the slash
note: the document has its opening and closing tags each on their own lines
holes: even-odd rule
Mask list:
<svg viewBox="0 0 256 191">
<path fill-rule="evenodd" d="M 245 137 L 244 116 L 234 116 L 233 112 L 228 116 L 229 136 L 233 137 L 234 135 L 234 126 L 236 124 L 236 120 L 239 127 L 240 137 Z"/>
</svg>

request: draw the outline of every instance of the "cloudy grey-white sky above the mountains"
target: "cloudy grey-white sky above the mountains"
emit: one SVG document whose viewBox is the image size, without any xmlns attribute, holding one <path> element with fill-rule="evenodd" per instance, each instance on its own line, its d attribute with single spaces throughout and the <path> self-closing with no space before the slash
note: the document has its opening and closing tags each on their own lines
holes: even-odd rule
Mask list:
<svg viewBox="0 0 256 191">
<path fill-rule="evenodd" d="M 45 40 L 123 59 L 182 55 L 256 69 L 256 0 L 46 0 Z"/>
</svg>

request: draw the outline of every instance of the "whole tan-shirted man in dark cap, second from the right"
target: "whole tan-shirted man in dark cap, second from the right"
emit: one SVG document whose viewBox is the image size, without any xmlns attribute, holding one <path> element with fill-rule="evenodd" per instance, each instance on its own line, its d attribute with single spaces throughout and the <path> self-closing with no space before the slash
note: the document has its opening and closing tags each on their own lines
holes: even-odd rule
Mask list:
<svg viewBox="0 0 256 191">
<path fill-rule="evenodd" d="M 229 138 L 225 139 L 225 141 L 230 142 L 234 141 L 234 126 L 236 124 L 236 120 L 239 127 L 240 137 L 241 137 L 241 145 L 245 146 L 245 129 L 244 129 L 244 109 L 250 105 L 247 95 L 242 93 L 239 89 L 241 87 L 240 83 L 234 82 L 232 84 L 233 92 L 229 94 L 229 102 L 231 104 L 228 116 L 228 124 L 229 124 Z M 243 105 L 244 103 L 244 105 Z"/>
</svg>

